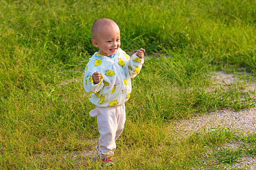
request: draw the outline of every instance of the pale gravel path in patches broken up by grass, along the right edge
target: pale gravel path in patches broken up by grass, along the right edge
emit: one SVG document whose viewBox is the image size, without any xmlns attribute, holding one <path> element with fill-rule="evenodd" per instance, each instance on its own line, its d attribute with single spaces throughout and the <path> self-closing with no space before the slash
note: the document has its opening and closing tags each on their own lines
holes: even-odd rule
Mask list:
<svg viewBox="0 0 256 170">
<path fill-rule="evenodd" d="M 221 87 L 225 88 L 225 86 L 232 85 L 234 83 L 242 83 L 244 85 L 244 92 L 256 92 L 256 83 L 252 83 L 254 81 L 243 80 L 243 77 L 247 78 L 250 74 L 245 74 L 244 72 L 234 74 L 226 74 L 224 72 L 216 72 L 213 74 L 213 87 L 221 85 Z M 207 89 L 209 91 L 211 89 Z M 256 94 L 256 93 L 255 93 Z M 256 95 L 254 95 L 256 96 Z M 255 103 L 255 101 L 254 101 Z M 192 119 L 182 119 L 174 122 L 174 126 L 178 134 L 180 134 L 180 138 L 185 138 L 188 134 L 193 132 L 209 132 L 215 131 L 219 128 L 230 128 L 235 132 L 243 133 L 244 135 L 253 134 L 256 132 L 256 107 L 253 107 L 248 110 L 240 110 L 235 112 L 234 110 L 218 110 L 216 112 L 212 112 L 208 115 L 201 115 L 197 117 L 193 117 Z M 230 143 L 225 144 L 222 148 L 218 148 L 217 150 L 226 150 L 230 149 L 231 151 L 235 151 L 237 148 L 241 149 L 246 147 L 250 148 L 250 143 L 242 143 L 239 141 L 232 141 Z M 209 154 L 213 151 L 208 150 L 208 153 L 205 153 L 205 162 L 214 161 L 213 157 L 209 157 Z M 239 163 L 233 163 L 229 167 L 224 167 L 227 169 L 235 169 L 235 170 L 256 170 L 256 159 L 252 155 L 248 153 L 241 153 Z M 216 167 L 217 168 L 217 167 Z M 223 168 L 223 167 L 222 167 Z M 222 169 L 221 168 L 221 169 Z M 205 168 L 197 168 L 197 169 L 205 169 Z M 218 169 L 218 168 L 217 168 Z"/>
</svg>

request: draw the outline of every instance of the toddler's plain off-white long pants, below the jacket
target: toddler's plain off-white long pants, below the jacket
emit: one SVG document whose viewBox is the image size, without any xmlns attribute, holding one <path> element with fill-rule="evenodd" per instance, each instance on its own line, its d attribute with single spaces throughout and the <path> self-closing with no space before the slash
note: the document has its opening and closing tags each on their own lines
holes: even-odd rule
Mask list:
<svg viewBox="0 0 256 170">
<path fill-rule="evenodd" d="M 96 107 L 98 122 L 98 145 L 100 158 L 114 155 L 116 140 L 121 135 L 126 119 L 125 105 L 118 107 Z"/>
</svg>

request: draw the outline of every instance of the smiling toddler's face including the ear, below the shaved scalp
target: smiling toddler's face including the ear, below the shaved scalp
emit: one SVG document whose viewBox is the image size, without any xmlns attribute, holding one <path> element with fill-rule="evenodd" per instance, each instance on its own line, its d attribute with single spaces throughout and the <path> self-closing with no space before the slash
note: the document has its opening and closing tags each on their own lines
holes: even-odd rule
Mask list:
<svg viewBox="0 0 256 170">
<path fill-rule="evenodd" d="M 120 47 L 120 31 L 118 26 L 110 25 L 101 29 L 96 38 L 92 40 L 98 52 L 105 56 L 116 54 Z"/>
</svg>

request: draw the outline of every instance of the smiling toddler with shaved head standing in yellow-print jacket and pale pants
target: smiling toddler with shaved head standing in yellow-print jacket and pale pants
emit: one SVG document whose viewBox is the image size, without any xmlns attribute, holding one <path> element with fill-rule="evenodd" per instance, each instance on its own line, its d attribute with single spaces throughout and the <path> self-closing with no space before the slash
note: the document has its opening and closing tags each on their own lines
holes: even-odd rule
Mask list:
<svg viewBox="0 0 256 170">
<path fill-rule="evenodd" d="M 124 128 L 125 105 L 132 91 L 131 78 L 134 78 L 144 63 L 144 49 L 132 57 L 120 47 L 120 30 L 116 22 L 108 18 L 96 20 L 92 26 L 92 44 L 98 52 L 90 58 L 83 80 L 89 93 L 89 100 L 96 109 L 89 112 L 97 116 L 98 154 L 106 165 L 113 165 L 112 157 L 116 140 Z"/>
</svg>

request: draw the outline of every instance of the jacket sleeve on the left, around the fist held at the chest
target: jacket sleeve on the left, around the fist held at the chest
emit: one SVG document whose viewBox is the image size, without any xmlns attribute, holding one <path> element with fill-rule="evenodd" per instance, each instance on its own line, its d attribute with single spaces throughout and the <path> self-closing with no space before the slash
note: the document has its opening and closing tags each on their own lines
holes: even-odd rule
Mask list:
<svg viewBox="0 0 256 170">
<path fill-rule="evenodd" d="M 87 93 L 90 93 L 90 91 L 93 93 L 99 92 L 104 86 L 101 71 L 99 71 L 101 73 L 100 81 L 97 84 L 93 83 L 93 73 L 96 71 L 94 60 L 91 59 L 85 67 L 83 79 L 83 87 Z"/>
</svg>

